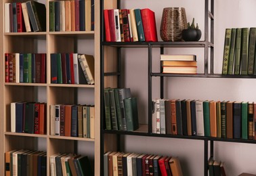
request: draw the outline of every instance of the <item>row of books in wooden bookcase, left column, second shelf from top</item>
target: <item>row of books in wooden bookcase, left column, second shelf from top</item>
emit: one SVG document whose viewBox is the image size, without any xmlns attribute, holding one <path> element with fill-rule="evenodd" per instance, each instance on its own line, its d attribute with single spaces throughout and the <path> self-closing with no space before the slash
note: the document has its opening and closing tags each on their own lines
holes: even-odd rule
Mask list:
<svg viewBox="0 0 256 176">
<path fill-rule="evenodd" d="M 5 83 L 45 83 L 46 53 L 5 53 Z"/>
</svg>

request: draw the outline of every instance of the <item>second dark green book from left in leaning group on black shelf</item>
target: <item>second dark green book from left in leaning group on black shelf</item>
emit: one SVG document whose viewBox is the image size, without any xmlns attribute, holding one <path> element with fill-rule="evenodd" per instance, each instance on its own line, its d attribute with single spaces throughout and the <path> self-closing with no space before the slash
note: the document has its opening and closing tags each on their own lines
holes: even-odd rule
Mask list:
<svg viewBox="0 0 256 176">
<path fill-rule="evenodd" d="M 108 89 L 109 93 L 109 100 L 110 100 L 110 116 L 111 116 L 111 123 L 112 129 L 118 130 L 118 123 L 117 123 L 117 116 L 116 116 L 116 101 L 114 99 L 114 89 Z"/>
</svg>

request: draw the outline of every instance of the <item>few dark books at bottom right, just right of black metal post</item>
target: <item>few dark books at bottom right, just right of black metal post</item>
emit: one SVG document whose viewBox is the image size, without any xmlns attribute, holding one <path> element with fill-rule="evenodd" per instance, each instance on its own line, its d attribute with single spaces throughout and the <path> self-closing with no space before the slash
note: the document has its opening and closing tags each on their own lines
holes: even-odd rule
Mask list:
<svg viewBox="0 0 256 176">
<path fill-rule="evenodd" d="M 213 157 L 210 157 L 208 160 L 208 168 L 210 176 L 226 176 L 226 171 L 224 168 L 224 162 L 213 160 Z"/>
</svg>

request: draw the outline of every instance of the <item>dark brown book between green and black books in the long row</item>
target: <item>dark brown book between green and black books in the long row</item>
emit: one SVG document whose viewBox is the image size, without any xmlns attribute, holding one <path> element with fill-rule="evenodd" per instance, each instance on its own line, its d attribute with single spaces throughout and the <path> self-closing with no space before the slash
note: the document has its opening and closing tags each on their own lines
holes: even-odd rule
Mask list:
<svg viewBox="0 0 256 176">
<path fill-rule="evenodd" d="M 227 129 L 227 138 L 233 138 L 233 103 L 228 101 L 226 103 L 226 129 Z"/>
</svg>

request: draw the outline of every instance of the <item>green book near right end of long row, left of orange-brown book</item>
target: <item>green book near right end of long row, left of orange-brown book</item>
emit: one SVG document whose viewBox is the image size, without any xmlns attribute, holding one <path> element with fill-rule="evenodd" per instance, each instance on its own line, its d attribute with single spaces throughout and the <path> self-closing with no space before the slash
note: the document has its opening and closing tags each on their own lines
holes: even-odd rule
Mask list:
<svg viewBox="0 0 256 176">
<path fill-rule="evenodd" d="M 248 139 L 248 102 L 242 102 L 242 139 Z"/>
</svg>

